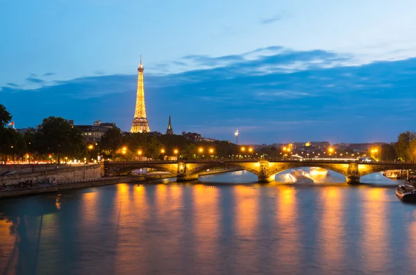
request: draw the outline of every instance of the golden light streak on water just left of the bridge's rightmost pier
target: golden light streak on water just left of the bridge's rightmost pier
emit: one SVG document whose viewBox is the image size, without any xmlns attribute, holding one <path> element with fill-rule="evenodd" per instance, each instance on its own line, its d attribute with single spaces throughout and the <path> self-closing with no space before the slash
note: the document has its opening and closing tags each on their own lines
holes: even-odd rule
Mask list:
<svg viewBox="0 0 416 275">
<path fill-rule="evenodd" d="M 322 219 L 319 224 L 320 257 L 322 264 L 336 268 L 345 258 L 343 224 L 343 190 L 337 186 L 321 189 Z"/>
</svg>

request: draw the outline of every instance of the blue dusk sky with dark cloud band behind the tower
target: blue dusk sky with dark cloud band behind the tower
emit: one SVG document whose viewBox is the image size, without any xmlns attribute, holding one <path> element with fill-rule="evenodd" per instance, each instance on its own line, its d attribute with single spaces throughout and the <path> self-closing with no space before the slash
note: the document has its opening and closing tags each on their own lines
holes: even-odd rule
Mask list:
<svg viewBox="0 0 416 275">
<path fill-rule="evenodd" d="M 0 0 L 0 104 L 239 143 L 392 142 L 415 130 L 416 1 Z"/>
</svg>

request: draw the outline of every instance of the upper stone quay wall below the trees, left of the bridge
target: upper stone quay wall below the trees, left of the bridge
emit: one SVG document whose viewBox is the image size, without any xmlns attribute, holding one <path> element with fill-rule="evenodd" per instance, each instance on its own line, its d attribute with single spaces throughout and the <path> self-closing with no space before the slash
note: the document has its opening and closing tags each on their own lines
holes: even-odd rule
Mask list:
<svg viewBox="0 0 416 275">
<path fill-rule="evenodd" d="M 12 175 L 0 176 L 0 185 L 6 184 L 8 186 L 19 184 L 22 181 L 32 181 L 33 184 L 41 184 L 44 182 L 96 179 L 101 177 L 100 166 L 98 164 L 72 167 L 55 165 L 54 167 L 51 170 L 49 170 L 49 167 L 47 170 L 44 167 L 44 170 L 37 170 L 35 172 L 19 172 Z"/>
</svg>

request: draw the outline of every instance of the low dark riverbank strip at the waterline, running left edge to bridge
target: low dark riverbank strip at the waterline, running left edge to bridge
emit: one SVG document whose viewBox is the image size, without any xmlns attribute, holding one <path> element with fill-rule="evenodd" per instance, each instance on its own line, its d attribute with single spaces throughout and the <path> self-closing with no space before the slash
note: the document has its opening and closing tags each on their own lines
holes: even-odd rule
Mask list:
<svg viewBox="0 0 416 275">
<path fill-rule="evenodd" d="M 152 181 L 155 179 L 167 179 L 173 177 L 172 175 L 151 175 L 151 176 L 137 176 L 137 177 L 107 177 L 94 180 L 85 181 L 69 181 L 58 184 L 37 184 L 35 186 L 29 186 L 26 188 L 6 188 L 0 190 L 0 199 L 6 197 L 17 197 L 23 195 L 36 195 L 42 193 L 53 193 L 61 190 L 87 188 L 104 186 L 110 184 L 120 184 L 129 182 L 144 182 Z"/>
</svg>

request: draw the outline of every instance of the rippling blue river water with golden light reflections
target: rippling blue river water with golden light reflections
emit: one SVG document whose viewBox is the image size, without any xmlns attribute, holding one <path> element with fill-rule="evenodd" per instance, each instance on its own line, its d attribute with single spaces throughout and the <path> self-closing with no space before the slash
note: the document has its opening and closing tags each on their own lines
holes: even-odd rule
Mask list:
<svg viewBox="0 0 416 275">
<path fill-rule="evenodd" d="M 288 173 L 2 199 L 0 274 L 415 273 L 416 205 L 397 181 Z"/>
</svg>

